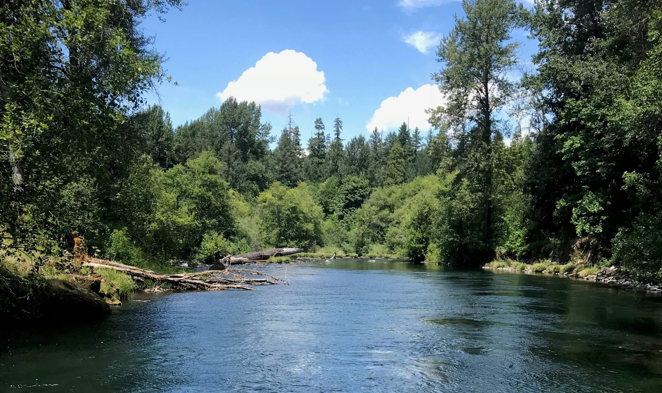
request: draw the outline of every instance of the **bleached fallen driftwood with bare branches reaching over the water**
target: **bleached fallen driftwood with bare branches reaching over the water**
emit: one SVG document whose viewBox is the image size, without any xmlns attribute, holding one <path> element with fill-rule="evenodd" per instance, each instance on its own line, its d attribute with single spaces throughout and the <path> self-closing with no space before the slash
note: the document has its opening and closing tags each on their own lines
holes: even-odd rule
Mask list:
<svg viewBox="0 0 662 393">
<path fill-rule="evenodd" d="M 226 268 L 182 274 L 158 274 L 152 270 L 129 266 L 111 260 L 87 257 L 83 266 L 118 270 L 131 276 L 134 281 L 152 280 L 156 284 L 167 282 L 172 290 L 254 290 L 251 286 L 287 284 L 285 280 L 269 276 L 255 269 Z M 258 276 L 258 277 L 252 277 Z"/>
</svg>

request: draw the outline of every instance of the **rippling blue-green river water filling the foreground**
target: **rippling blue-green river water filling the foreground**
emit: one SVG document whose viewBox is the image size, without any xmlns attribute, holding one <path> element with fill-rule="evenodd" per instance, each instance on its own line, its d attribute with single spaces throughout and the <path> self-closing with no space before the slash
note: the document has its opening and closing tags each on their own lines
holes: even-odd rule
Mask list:
<svg viewBox="0 0 662 393">
<path fill-rule="evenodd" d="M 339 259 L 3 333 L 2 392 L 662 392 L 662 298 Z"/>
</svg>

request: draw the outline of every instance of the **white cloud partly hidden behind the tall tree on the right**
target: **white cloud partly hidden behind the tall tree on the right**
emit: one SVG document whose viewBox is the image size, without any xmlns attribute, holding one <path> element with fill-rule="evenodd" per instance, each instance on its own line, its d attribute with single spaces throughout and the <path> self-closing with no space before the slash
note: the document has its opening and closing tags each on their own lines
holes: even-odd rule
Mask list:
<svg viewBox="0 0 662 393">
<path fill-rule="evenodd" d="M 407 87 L 397 97 L 389 97 L 381 101 L 379 109 L 375 111 L 372 119 L 365 125 L 368 132 L 375 127 L 377 129 L 395 129 L 400 127 L 403 121 L 409 119 L 409 127 L 412 129 L 429 129 L 428 119 L 430 115 L 425 113 L 428 108 L 436 108 L 444 105 L 446 99 L 436 85 L 422 85 L 414 90 Z"/>
</svg>

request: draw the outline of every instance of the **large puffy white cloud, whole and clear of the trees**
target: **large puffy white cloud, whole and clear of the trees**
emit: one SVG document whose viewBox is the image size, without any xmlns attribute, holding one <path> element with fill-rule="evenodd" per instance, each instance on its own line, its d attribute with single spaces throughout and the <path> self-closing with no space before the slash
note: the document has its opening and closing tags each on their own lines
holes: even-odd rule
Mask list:
<svg viewBox="0 0 662 393">
<path fill-rule="evenodd" d="M 323 101 L 328 93 L 324 72 L 303 52 L 286 49 L 265 54 L 238 80 L 216 93 L 218 99 L 230 96 L 256 101 L 263 108 L 284 113 L 299 103 Z"/>
</svg>

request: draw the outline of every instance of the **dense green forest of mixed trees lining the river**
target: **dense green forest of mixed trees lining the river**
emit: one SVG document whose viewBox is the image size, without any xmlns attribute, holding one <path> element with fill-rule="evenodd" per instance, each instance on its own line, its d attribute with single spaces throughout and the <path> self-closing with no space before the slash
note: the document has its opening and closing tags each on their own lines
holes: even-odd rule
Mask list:
<svg viewBox="0 0 662 393">
<path fill-rule="evenodd" d="M 662 278 L 662 1 L 464 0 L 436 52 L 432 129 L 351 139 L 342 113 L 274 129 L 230 97 L 175 126 L 147 105 L 173 82 L 140 21 L 183 5 L 0 5 L 5 259 L 38 272 L 82 235 L 164 269 L 298 247 Z"/>
</svg>

